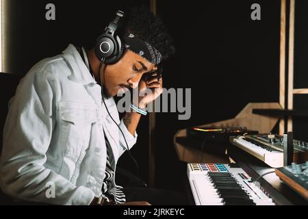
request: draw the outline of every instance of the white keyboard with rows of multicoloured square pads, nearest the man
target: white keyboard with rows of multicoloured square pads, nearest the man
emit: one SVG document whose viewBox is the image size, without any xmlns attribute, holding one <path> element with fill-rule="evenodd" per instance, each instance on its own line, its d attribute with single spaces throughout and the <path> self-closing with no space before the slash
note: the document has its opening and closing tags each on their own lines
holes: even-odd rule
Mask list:
<svg viewBox="0 0 308 219">
<path fill-rule="evenodd" d="M 232 164 L 188 164 L 196 205 L 274 205 L 242 168 Z"/>
</svg>

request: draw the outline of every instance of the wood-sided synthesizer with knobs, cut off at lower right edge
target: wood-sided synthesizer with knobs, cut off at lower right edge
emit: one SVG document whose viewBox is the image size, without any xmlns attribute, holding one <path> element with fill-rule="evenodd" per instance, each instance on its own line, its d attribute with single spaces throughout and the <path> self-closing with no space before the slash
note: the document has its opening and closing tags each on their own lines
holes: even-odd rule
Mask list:
<svg viewBox="0 0 308 219">
<path fill-rule="evenodd" d="M 275 169 L 276 175 L 308 201 L 308 162 Z"/>
</svg>

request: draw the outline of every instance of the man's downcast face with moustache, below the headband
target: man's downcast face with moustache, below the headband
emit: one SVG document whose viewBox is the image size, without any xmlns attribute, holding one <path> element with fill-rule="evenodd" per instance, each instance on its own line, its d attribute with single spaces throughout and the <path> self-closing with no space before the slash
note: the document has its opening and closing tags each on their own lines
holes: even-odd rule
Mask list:
<svg viewBox="0 0 308 219">
<path fill-rule="evenodd" d="M 157 70 L 154 64 L 127 49 L 116 64 L 107 65 L 101 71 L 104 93 L 112 97 L 130 87 L 136 88 L 142 75 L 154 70 Z"/>
</svg>

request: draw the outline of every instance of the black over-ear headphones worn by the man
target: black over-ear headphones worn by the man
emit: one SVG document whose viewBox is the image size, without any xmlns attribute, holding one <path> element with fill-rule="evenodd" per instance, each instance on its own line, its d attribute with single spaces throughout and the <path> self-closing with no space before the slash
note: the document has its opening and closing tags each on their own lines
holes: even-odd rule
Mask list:
<svg viewBox="0 0 308 219">
<path fill-rule="evenodd" d="M 97 38 L 95 55 L 105 64 L 118 62 L 123 54 L 124 43 L 120 36 L 118 36 L 118 29 L 120 28 L 123 17 L 124 12 L 118 10 L 114 20 L 105 28 L 105 32 Z"/>
</svg>

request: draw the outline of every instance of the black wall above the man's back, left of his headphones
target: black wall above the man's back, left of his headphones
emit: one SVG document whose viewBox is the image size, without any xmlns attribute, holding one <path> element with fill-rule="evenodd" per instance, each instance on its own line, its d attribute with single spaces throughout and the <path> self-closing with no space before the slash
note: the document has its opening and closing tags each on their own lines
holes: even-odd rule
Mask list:
<svg viewBox="0 0 308 219">
<path fill-rule="evenodd" d="M 47 21 L 45 6 L 55 5 L 55 21 Z M 8 71 L 25 75 L 44 57 L 61 53 L 68 44 L 95 40 L 118 8 L 148 0 L 73 1 L 8 0 Z"/>
</svg>

